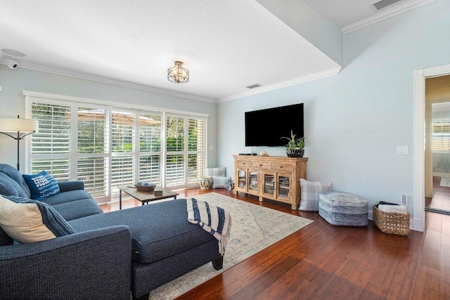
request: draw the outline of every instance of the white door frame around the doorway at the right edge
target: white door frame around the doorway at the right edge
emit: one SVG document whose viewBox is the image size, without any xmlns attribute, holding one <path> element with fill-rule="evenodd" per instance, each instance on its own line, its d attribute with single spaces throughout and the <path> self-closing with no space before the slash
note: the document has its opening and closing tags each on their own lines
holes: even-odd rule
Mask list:
<svg viewBox="0 0 450 300">
<path fill-rule="evenodd" d="M 425 79 L 450 74 L 450 65 L 414 71 L 413 230 L 425 230 Z"/>
</svg>

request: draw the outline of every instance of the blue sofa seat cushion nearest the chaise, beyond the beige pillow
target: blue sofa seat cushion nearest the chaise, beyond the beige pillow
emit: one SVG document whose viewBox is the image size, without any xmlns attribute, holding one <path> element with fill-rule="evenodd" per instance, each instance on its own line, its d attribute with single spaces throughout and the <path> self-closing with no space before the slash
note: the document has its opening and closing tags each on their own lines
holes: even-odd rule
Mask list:
<svg viewBox="0 0 450 300">
<path fill-rule="evenodd" d="M 91 197 L 54 204 L 52 207 L 67 221 L 83 218 L 84 216 L 91 216 L 93 214 L 103 214 L 103 211 L 98 206 L 97 202 Z"/>
</svg>

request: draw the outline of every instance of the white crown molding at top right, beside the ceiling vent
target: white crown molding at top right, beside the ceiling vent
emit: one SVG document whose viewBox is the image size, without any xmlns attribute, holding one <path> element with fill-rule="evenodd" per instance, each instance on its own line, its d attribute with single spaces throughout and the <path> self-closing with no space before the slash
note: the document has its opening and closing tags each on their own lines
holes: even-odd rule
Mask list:
<svg viewBox="0 0 450 300">
<path fill-rule="evenodd" d="M 362 27 L 366 27 L 375 22 L 380 22 L 381 20 L 385 20 L 394 15 L 399 15 L 400 13 L 404 13 L 405 11 L 410 11 L 413 8 L 423 6 L 424 4 L 428 4 L 431 1 L 434 1 L 434 0 L 412 0 L 412 1 L 406 2 L 405 4 L 399 4 L 398 6 L 395 6 L 392 8 L 387 8 L 385 11 L 380 11 L 379 13 L 376 13 L 375 15 L 372 15 L 368 18 L 365 18 L 358 22 L 354 22 L 353 24 L 342 27 L 342 34 L 347 34 L 354 30 L 359 30 Z"/>
</svg>

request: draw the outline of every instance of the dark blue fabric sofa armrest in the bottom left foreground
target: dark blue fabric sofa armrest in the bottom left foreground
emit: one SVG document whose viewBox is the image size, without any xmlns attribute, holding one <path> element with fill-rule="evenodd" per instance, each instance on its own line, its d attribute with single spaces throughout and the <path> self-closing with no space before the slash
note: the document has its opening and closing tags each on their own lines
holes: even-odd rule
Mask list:
<svg viewBox="0 0 450 300">
<path fill-rule="evenodd" d="M 0 247 L 0 299 L 127 299 L 131 233 L 112 226 Z"/>
</svg>

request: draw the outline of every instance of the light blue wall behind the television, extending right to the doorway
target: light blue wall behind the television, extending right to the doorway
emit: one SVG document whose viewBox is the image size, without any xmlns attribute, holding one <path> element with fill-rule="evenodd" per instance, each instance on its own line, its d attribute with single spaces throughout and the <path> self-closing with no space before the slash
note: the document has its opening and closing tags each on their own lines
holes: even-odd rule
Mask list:
<svg viewBox="0 0 450 300">
<path fill-rule="evenodd" d="M 450 63 L 450 1 L 435 0 L 344 36 L 340 74 L 226 103 L 217 109 L 219 164 L 232 175 L 244 112 L 304 103 L 307 178 L 369 201 L 413 200 L 413 71 Z M 259 129 L 276 124 L 262 122 Z M 397 146 L 409 155 L 397 155 Z M 258 148 L 271 155 L 283 149 Z M 413 213 L 413 203 L 409 204 Z"/>
</svg>

